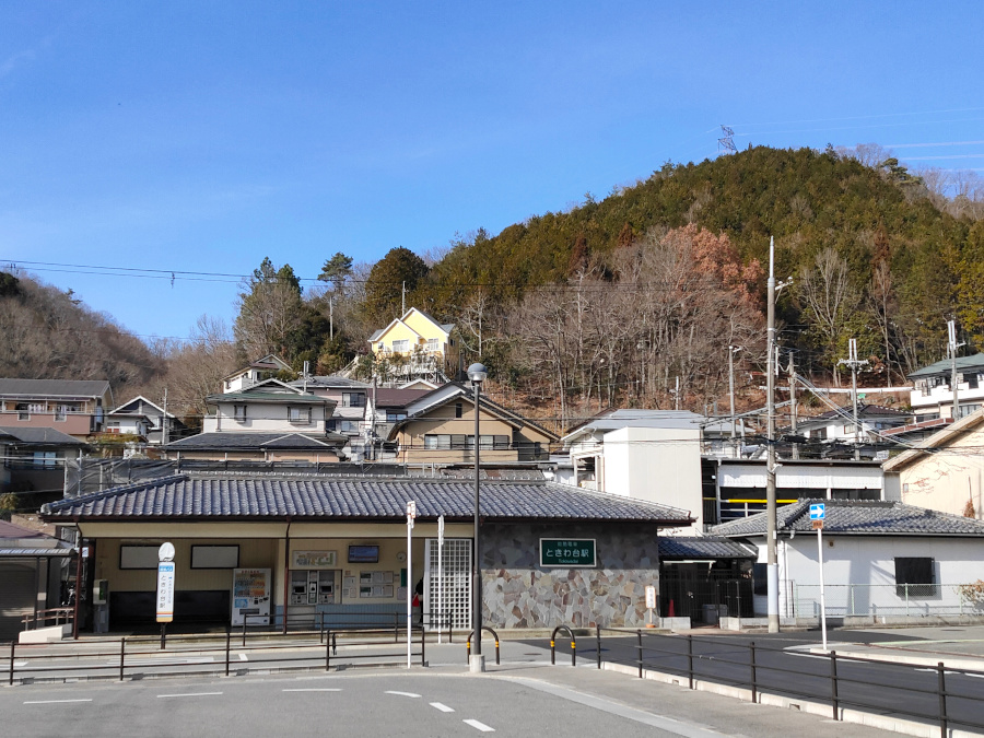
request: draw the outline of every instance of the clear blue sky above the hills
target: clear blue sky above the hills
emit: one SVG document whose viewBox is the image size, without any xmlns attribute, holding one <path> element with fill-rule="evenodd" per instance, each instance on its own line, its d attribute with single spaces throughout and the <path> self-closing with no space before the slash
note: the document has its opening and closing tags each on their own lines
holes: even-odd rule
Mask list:
<svg viewBox="0 0 984 738">
<path fill-rule="evenodd" d="M 719 124 L 984 167 L 982 31 L 969 2 L 11 0 L 0 262 L 314 278 L 714 156 Z M 234 280 L 27 268 L 142 336 L 234 317 Z"/>
</svg>

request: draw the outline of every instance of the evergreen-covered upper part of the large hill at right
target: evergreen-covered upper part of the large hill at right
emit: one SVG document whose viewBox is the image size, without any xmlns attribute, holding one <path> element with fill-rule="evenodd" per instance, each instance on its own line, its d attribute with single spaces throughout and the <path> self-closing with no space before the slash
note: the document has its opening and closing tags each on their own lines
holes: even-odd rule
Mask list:
<svg viewBox="0 0 984 738">
<path fill-rule="evenodd" d="M 495 284 L 495 296 L 509 300 L 584 263 L 604 270 L 654 229 L 692 223 L 726 235 L 745 263 L 766 266 L 775 237 L 776 276 L 795 278 L 780 301 L 786 341 L 810 367 L 829 372 L 856 337 L 865 355 L 899 374 L 940 358 L 947 319 L 982 343 L 984 225 L 959 204 L 893 159 L 867 166 L 833 150 L 758 147 L 666 164 L 604 200 L 587 197 L 493 237 L 479 232 L 431 270 L 426 303 L 452 318 L 464 285 Z M 759 294 L 764 303 L 764 281 Z"/>
</svg>

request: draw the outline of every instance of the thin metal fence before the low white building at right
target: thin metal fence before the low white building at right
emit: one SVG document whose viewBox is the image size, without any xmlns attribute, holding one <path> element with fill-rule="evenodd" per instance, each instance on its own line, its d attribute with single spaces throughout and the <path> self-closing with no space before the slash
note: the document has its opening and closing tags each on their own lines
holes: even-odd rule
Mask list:
<svg viewBox="0 0 984 738">
<path fill-rule="evenodd" d="M 984 616 L 973 585 L 835 584 L 823 587 L 828 618 Z M 820 585 L 793 584 L 793 617 L 820 617 Z"/>
</svg>

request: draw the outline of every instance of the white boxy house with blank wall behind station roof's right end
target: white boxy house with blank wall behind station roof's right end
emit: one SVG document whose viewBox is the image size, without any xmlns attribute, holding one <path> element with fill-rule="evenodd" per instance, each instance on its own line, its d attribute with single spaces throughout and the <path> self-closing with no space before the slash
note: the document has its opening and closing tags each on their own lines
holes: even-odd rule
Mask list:
<svg viewBox="0 0 984 738">
<path fill-rule="evenodd" d="M 611 410 L 561 438 L 577 487 L 690 511 L 703 529 L 698 414 Z"/>
</svg>

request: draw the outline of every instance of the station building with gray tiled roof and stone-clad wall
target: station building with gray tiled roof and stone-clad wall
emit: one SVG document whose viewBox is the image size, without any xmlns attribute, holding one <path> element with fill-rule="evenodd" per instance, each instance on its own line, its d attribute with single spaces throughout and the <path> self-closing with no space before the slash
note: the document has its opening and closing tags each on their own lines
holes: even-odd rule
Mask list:
<svg viewBox="0 0 984 738">
<path fill-rule="evenodd" d="M 646 587 L 659 583 L 659 531 L 691 520 L 543 480 L 482 481 L 480 513 L 482 618 L 493 628 L 641 626 Z M 56 502 L 42 517 L 77 528 L 91 547 L 91 565 L 108 581 L 112 630 L 153 622 L 165 541 L 176 550 L 175 620 L 186 626 L 238 624 L 245 610 L 254 624 L 284 630 L 391 626 L 420 581 L 425 623 L 435 625 L 443 517 L 442 601 L 456 630 L 471 625 L 472 480 L 184 473 Z M 254 587 L 248 602 L 235 596 L 243 576 Z"/>
</svg>

